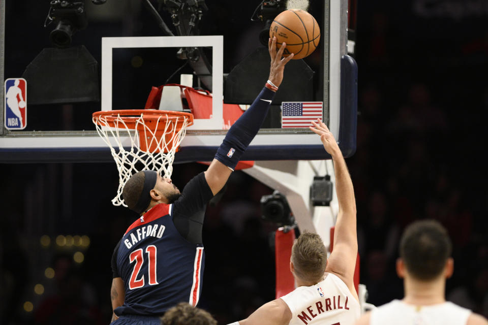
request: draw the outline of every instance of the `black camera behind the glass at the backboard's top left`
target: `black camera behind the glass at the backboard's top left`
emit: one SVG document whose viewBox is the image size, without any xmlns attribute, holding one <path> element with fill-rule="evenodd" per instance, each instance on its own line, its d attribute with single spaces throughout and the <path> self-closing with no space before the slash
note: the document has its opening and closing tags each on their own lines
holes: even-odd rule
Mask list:
<svg viewBox="0 0 488 325">
<path fill-rule="evenodd" d="M 102 5 L 105 2 L 106 0 L 92 0 L 92 3 L 95 5 Z M 51 1 L 44 27 L 52 22 L 56 23 L 56 27 L 49 35 L 51 43 L 61 48 L 70 46 L 73 34 L 78 30 L 86 28 L 88 25 L 84 2 L 69 0 Z"/>
</svg>

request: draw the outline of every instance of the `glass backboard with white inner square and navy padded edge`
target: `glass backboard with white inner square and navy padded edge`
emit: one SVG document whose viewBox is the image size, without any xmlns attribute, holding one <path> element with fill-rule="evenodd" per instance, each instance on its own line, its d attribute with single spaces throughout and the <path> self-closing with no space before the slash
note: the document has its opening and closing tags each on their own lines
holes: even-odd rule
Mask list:
<svg viewBox="0 0 488 325">
<path fill-rule="evenodd" d="M 357 70 L 347 55 L 345 0 L 200 1 L 191 10 L 180 10 L 179 16 L 174 15 L 178 13 L 174 8 L 161 4 L 155 9 L 174 36 L 162 36 L 166 34 L 161 21 L 141 2 L 120 0 L 97 6 L 87 0 L 87 24 L 72 34 L 64 49 L 54 49 L 50 37 L 53 30 L 65 26 L 57 20 L 43 26 L 48 12 L 53 17 L 56 8 L 52 5 L 7 0 L 0 6 L 0 74 L 4 81 L 26 80 L 28 111 L 24 128 L 8 127 L 10 84 L 2 83 L 1 162 L 111 161 L 109 148 L 95 131 L 92 114 L 142 109 L 153 86 L 182 82 L 190 82 L 207 100 L 211 93 L 211 112 L 195 119 L 175 162 L 211 160 L 232 123 L 225 120 L 224 112 L 230 106 L 245 110 L 266 82 L 269 58 L 260 43 L 260 32 L 269 17 L 287 6 L 306 6 L 302 9 L 320 26 L 320 43 L 310 56 L 292 60 L 286 67 L 263 127 L 243 159 L 327 158 L 308 128 L 284 127 L 284 102 L 321 103 L 322 117 L 344 154 L 355 151 Z M 24 19 L 26 12 L 31 19 Z M 79 17 L 68 18 L 75 25 L 80 23 Z M 171 98 L 171 92 L 166 95 Z M 188 109 L 188 99 L 182 101 Z M 192 109 L 199 110 L 199 105 L 193 103 Z"/>
</svg>

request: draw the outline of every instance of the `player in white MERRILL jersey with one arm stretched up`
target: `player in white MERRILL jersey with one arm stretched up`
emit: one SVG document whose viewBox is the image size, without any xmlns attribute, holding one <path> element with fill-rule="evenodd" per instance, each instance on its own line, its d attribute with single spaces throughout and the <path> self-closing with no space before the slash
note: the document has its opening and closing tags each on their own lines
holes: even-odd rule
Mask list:
<svg viewBox="0 0 488 325">
<path fill-rule="evenodd" d="M 296 289 L 230 325 L 353 325 L 360 316 L 353 277 L 357 258 L 356 202 L 351 177 L 337 141 L 321 120 L 311 131 L 332 156 L 339 213 L 333 251 L 317 234 L 303 232 L 293 243 L 290 270 Z"/>
</svg>

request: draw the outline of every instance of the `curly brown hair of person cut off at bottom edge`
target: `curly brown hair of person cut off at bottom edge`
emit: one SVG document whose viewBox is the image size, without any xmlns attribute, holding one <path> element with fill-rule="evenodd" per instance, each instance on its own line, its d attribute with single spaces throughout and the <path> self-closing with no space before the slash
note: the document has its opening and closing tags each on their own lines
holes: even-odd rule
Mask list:
<svg viewBox="0 0 488 325">
<path fill-rule="evenodd" d="M 203 309 L 179 303 L 161 317 L 161 325 L 217 325 L 217 320 Z"/>
</svg>

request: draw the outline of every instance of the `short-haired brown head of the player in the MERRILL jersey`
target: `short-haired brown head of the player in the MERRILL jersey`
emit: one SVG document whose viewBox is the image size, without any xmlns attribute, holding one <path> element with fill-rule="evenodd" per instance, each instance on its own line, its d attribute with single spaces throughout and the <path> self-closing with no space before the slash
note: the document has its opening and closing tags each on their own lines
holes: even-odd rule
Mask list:
<svg viewBox="0 0 488 325">
<path fill-rule="evenodd" d="M 322 238 L 307 231 L 300 234 L 291 248 L 291 261 L 300 279 L 321 281 L 327 265 L 327 249 Z"/>
</svg>

